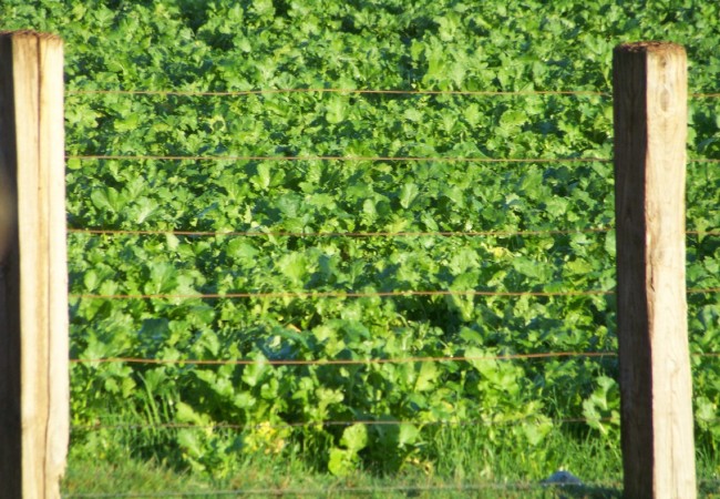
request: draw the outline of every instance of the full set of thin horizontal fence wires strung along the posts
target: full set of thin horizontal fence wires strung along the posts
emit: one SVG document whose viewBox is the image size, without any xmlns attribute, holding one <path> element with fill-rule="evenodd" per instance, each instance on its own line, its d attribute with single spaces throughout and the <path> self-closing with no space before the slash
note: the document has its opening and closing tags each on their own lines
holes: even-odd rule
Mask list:
<svg viewBox="0 0 720 499">
<path fill-rule="evenodd" d="M 357 93 L 357 94 L 408 94 L 408 95 L 596 95 L 609 96 L 607 92 L 595 91 L 517 91 L 517 92 L 486 92 L 486 91 L 430 91 L 430 90 L 356 90 L 356 89 L 277 89 L 277 90 L 255 90 L 255 91 L 236 91 L 236 92 L 195 92 L 195 91 L 69 91 L 68 94 L 145 94 L 145 95 L 178 95 L 178 96 L 238 96 L 251 94 L 274 94 L 274 93 Z M 695 98 L 717 98 L 720 94 L 693 94 Z M 204 155 L 68 155 L 69 160 L 126 160 L 126 161 L 373 161 L 373 162 L 421 162 L 421 161 L 435 161 L 435 162 L 453 162 L 453 163 L 579 163 L 579 162 L 611 162 L 611 159 L 606 157 L 562 157 L 562 159 L 487 159 L 487 157 L 389 157 L 389 156 L 271 156 L 271 155 L 218 155 L 218 156 L 204 156 Z M 693 163 L 717 163 L 720 160 L 714 159 L 691 159 L 688 160 Z M 356 232 L 356 233 L 279 233 L 279 232 L 189 232 L 189 231 L 109 231 L 109 230 L 70 230 L 72 233 L 86 233 L 86 234 L 125 234 L 125 235 L 160 235 L 160 234 L 174 234 L 187 236 L 227 236 L 227 235 L 243 235 L 243 236 L 347 236 L 347 237 L 373 237 L 373 236 L 520 236 L 520 235 L 567 235 L 573 233 L 600 233 L 608 232 L 609 228 L 587 228 L 579 231 L 517 231 L 517 232 L 503 232 L 503 231 L 484 231 L 484 232 Z M 702 234 L 702 235 L 718 235 L 717 232 L 700 232 L 688 231 L 688 234 Z M 718 288 L 709 289 L 690 289 L 688 293 L 717 293 Z M 483 291 L 409 291 L 409 292 L 379 292 L 379 293 L 357 293 L 357 292 L 320 292 L 320 293 L 227 293 L 227 294 L 197 294 L 197 295 L 91 295 L 91 294 L 71 294 L 71 297 L 76 298 L 93 298 L 93 299 L 131 299 L 131 298 L 275 298 L 275 297 L 369 297 L 369 296 L 439 296 L 439 295 L 457 295 L 457 296 L 587 296 L 587 295 L 611 295 L 610 291 L 584 291 L 584 292 L 483 292 Z M 706 353 L 698 354 L 700 356 L 718 356 L 719 354 Z M 223 359 L 179 359 L 179 360 L 164 360 L 164 359 L 142 359 L 142 358 L 104 358 L 104 359 L 72 359 L 75 364 L 91 364 L 91 363 L 143 363 L 143 364 L 195 364 L 195 365 L 249 365 L 263 363 L 267 365 L 370 365 L 370 364 L 389 364 L 389 363 L 424 363 L 424 361 L 472 361 L 472 360 L 511 360 L 511 359 L 533 359 L 533 358 L 558 358 L 558 357 L 616 357 L 616 353 L 610 352 L 565 352 L 565 353 L 547 353 L 547 354 L 514 354 L 514 355 L 498 355 L 498 356 L 482 356 L 482 357 L 408 357 L 408 358 L 392 358 L 392 359 L 326 359 L 326 360 L 257 360 L 257 359 L 238 359 L 238 360 L 223 360 Z M 535 418 L 541 415 L 534 416 Z M 544 417 L 544 416 L 543 416 Z M 352 420 L 352 421 L 319 421 L 319 422 L 287 422 L 284 425 L 187 425 L 187 424 L 157 424 L 157 425 L 75 425 L 73 430 L 96 430 L 96 429 L 249 429 L 249 428 L 299 428 L 299 427 L 329 427 L 329 426 L 351 426 L 351 425 L 415 425 L 415 426 L 430 426 L 430 425 L 502 425 L 502 424 L 517 424 L 523 420 L 532 420 L 532 417 L 515 418 L 505 421 L 493 421 L 486 419 L 466 420 L 466 421 L 400 421 L 400 420 Z M 594 419 L 598 421 L 613 421 L 611 418 Z M 564 422 L 590 422 L 586 418 L 566 418 L 553 419 L 554 424 Z M 339 491 L 354 492 L 354 493 L 376 493 L 376 492 L 410 492 L 410 491 L 476 491 L 483 489 L 510 490 L 510 489 L 532 489 L 537 487 L 548 487 L 546 483 L 487 483 L 487 485 L 472 485 L 472 486 L 394 486 L 394 487 L 342 487 Z M 617 483 L 619 486 L 619 483 Z M 586 488 L 588 486 L 583 486 Z M 593 487 L 593 486 L 590 486 Z M 76 493 L 66 497 L 78 498 L 103 498 L 103 497 L 192 497 L 192 496 L 229 496 L 229 495 L 318 495 L 327 493 L 327 490 L 310 490 L 310 489 L 239 489 L 239 490 L 216 490 L 216 491 L 198 491 L 198 492 L 156 492 L 156 493 Z"/>
</svg>

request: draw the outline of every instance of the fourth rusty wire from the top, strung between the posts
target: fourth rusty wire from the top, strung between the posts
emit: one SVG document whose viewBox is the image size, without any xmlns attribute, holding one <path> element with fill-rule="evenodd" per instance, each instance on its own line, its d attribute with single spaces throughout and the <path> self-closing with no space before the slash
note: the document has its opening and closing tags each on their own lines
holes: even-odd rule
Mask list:
<svg viewBox="0 0 720 499">
<path fill-rule="evenodd" d="M 711 292 L 703 289 L 703 292 Z M 369 298 L 389 296 L 593 296 L 614 295 L 614 291 L 589 289 L 569 292 L 484 292 L 484 291 L 398 291 L 398 292 L 270 292 L 270 293 L 209 293 L 209 294 L 75 294 L 71 298 L 85 299 L 162 299 L 162 298 Z"/>
</svg>

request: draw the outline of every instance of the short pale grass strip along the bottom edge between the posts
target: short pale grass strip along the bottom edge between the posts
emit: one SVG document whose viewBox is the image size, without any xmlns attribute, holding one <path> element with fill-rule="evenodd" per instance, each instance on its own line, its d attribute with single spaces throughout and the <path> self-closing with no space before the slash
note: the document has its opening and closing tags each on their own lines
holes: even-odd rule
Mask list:
<svg viewBox="0 0 720 499">
<path fill-rule="evenodd" d="M 368 498 L 546 498 L 555 497 L 558 488 L 538 482 L 491 482 L 481 480 L 443 480 L 441 477 L 405 475 L 393 479 L 358 473 L 342 479 L 328 475 L 299 473 L 274 476 L 275 467 L 258 466 L 228 479 L 203 479 L 167 470 L 156 464 L 126 461 L 71 464 L 64 481 L 64 498 L 133 497 L 133 498 L 216 498 L 227 496 L 254 497 L 368 497 Z M 570 491 L 570 488 L 564 488 Z M 576 497 L 619 497 L 615 488 L 574 488 Z"/>
</svg>

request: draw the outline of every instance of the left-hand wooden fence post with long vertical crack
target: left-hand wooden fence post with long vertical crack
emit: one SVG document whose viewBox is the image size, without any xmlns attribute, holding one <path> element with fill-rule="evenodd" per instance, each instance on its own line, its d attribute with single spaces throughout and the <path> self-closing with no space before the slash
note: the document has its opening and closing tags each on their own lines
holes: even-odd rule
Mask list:
<svg viewBox="0 0 720 499">
<path fill-rule="evenodd" d="M 60 498 L 69 438 L 63 47 L 0 33 L 0 497 Z"/>
</svg>

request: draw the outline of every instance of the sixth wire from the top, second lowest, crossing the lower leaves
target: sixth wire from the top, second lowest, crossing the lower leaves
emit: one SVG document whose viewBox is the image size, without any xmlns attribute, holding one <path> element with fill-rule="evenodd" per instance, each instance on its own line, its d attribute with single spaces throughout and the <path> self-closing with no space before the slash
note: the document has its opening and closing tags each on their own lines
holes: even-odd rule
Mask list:
<svg viewBox="0 0 720 499">
<path fill-rule="evenodd" d="M 533 415 L 523 418 L 510 418 L 503 420 L 491 420 L 491 419 L 464 419 L 464 420 L 433 420 L 433 421 L 411 421 L 411 420 L 398 420 L 398 419 L 354 419 L 349 421 L 302 421 L 302 422 L 282 422 L 282 424 L 218 424 L 218 425 L 197 425 L 192 422 L 157 422 L 157 424 L 116 424 L 116 425 L 71 425 L 71 430 L 101 430 L 101 429 L 115 429 L 115 430 L 153 430 L 153 429 L 233 429 L 233 430 L 246 430 L 246 429 L 292 429 L 292 428 L 311 428 L 311 427 L 332 427 L 332 426 L 353 426 L 353 425 L 363 425 L 363 426 L 401 426 L 401 425 L 412 425 L 412 426 L 504 426 L 504 425 L 516 425 L 524 421 L 533 421 L 542 415 Z M 558 418 L 551 419 L 549 421 L 556 425 L 570 424 L 570 422 L 611 422 L 613 418 L 598 418 L 598 419 L 587 419 L 587 418 Z"/>
</svg>

